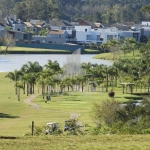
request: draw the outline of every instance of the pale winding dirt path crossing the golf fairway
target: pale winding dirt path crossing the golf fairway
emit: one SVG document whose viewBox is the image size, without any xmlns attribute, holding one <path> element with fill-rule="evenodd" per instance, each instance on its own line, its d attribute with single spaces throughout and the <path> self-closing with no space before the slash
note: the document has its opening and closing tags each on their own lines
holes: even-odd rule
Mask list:
<svg viewBox="0 0 150 150">
<path fill-rule="evenodd" d="M 40 94 L 33 94 L 32 96 L 30 96 L 29 98 L 25 99 L 24 102 L 28 105 L 30 105 L 31 107 L 33 107 L 34 109 L 37 110 L 45 110 L 45 111 L 53 111 L 53 112 L 58 112 L 58 113 L 67 113 L 70 114 L 70 119 L 77 119 L 81 114 L 78 113 L 72 113 L 72 112 L 65 112 L 65 111 L 54 111 L 54 110 L 49 110 L 49 109 L 43 109 L 40 108 L 40 106 L 38 104 L 33 103 L 32 101 L 38 97 Z"/>
</svg>

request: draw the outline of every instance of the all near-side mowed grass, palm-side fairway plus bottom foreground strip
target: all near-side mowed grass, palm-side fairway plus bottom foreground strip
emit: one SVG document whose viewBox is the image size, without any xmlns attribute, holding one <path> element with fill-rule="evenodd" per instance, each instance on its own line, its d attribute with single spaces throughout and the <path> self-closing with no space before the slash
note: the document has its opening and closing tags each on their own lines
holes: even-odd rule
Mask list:
<svg viewBox="0 0 150 150">
<path fill-rule="evenodd" d="M 148 150 L 149 135 L 84 135 L 84 136 L 42 136 L 23 137 L 31 132 L 29 126 L 34 121 L 36 126 L 44 126 L 47 122 L 58 122 L 63 129 L 64 121 L 71 113 L 80 114 L 83 124 L 94 127 L 90 117 L 93 102 L 108 99 L 106 92 L 71 92 L 69 95 L 53 95 L 51 101 L 45 103 L 40 95 L 34 103 L 40 110 L 24 103 L 26 95 L 21 91 L 21 101 L 15 95 L 14 83 L 0 73 L 0 136 L 17 136 L 17 139 L 0 139 L 0 150 Z M 110 90 L 110 89 L 109 89 Z M 139 91 L 138 91 L 139 92 Z M 144 91 L 143 91 L 144 92 Z M 37 89 L 35 91 L 37 93 Z M 29 96 L 28 96 L 29 97 Z M 115 89 L 115 99 L 120 102 L 138 98 L 137 95 L 122 94 L 121 88 Z M 140 97 L 139 97 L 140 99 Z"/>
</svg>

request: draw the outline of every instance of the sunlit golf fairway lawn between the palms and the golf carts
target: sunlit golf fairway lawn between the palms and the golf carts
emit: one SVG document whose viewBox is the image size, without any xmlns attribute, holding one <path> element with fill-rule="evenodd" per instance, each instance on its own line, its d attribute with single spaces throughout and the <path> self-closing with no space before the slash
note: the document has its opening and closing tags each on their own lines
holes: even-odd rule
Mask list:
<svg viewBox="0 0 150 150">
<path fill-rule="evenodd" d="M 0 73 L 0 135 L 22 136 L 29 132 L 31 122 L 42 126 L 47 122 L 58 122 L 63 129 L 64 121 L 70 117 L 71 113 L 80 114 L 79 120 L 83 124 L 95 126 L 90 111 L 93 102 L 102 102 L 108 99 L 107 92 L 70 92 L 68 96 L 53 95 L 51 101 L 45 103 L 40 95 L 34 103 L 40 105 L 41 110 L 36 110 L 24 103 L 27 98 L 21 91 L 21 101 L 15 95 L 14 83 L 4 78 L 6 73 Z M 110 90 L 110 89 L 109 89 Z M 37 93 L 37 89 L 35 91 Z M 131 94 L 122 94 L 121 88 L 115 89 L 115 99 L 121 102 L 130 98 L 138 97 Z"/>
</svg>

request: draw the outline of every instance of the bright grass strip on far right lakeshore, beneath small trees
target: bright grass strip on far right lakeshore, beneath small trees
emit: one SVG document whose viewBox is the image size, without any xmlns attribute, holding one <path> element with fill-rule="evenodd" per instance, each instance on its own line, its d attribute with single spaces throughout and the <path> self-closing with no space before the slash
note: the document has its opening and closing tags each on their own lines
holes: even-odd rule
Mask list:
<svg viewBox="0 0 150 150">
<path fill-rule="evenodd" d="M 137 59 L 140 57 L 140 53 L 138 51 L 135 51 L 135 54 L 133 56 L 132 53 L 127 53 L 125 56 L 123 53 L 120 53 L 119 55 L 117 55 L 117 57 L 114 57 L 112 53 L 101 53 L 101 54 L 98 54 L 96 56 L 94 56 L 94 58 L 96 59 L 105 59 L 105 60 L 114 60 L 116 58 L 128 58 L 128 59 Z"/>
</svg>

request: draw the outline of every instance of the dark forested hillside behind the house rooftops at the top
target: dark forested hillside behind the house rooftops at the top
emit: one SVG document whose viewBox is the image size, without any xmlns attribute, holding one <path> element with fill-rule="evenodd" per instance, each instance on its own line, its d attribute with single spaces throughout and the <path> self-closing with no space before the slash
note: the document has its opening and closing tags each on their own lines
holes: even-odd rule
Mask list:
<svg viewBox="0 0 150 150">
<path fill-rule="evenodd" d="M 0 0 L 1 17 L 16 13 L 24 21 L 55 17 L 103 24 L 147 21 L 150 14 L 140 9 L 148 4 L 150 0 Z"/>
</svg>

